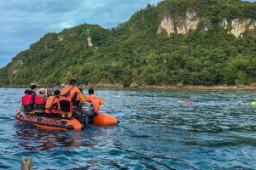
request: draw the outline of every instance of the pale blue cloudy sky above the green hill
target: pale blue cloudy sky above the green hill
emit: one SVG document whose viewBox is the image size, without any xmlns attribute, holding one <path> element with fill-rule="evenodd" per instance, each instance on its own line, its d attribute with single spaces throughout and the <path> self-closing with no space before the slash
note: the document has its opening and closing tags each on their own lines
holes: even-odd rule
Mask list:
<svg viewBox="0 0 256 170">
<path fill-rule="evenodd" d="M 0 68 L 48 32 L 79 24 L 118 26 L 161 0 L 1 0 Z M 251 0 L 255 2 L 255 0 Z"/>
</svg>

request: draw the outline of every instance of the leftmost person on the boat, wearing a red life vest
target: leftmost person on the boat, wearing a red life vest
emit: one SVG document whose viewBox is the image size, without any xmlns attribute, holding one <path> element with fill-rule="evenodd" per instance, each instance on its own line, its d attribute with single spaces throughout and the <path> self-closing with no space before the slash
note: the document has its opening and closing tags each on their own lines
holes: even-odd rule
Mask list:
<svg viewBox="0 0 256 170">
<path fill-rule="evenodd" d="M 27 114 L 35 114 L 31 91 L 26 89 L 24 94 L 25 95 L 21 98 L 23 110 L 26 111 Z"/>
</svg>

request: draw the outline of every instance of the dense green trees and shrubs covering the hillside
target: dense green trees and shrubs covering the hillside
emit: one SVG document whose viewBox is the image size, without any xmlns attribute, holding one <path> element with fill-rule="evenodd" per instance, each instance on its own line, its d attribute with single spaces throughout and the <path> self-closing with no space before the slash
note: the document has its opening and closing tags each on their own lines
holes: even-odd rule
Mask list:
<svg viewBox="0 0 256 170">
<path fill-rule="evenodd" d="M 157 34 L 166 14 L 184 16 L 192 8 L 211 20 L 186 35 Z M 80 25 L 47 33 L 0 69 L 1 86 L 67 83 L 140 85 L 235 85 L 256 82 L 256 38 L 234 37 L 223 18 L 256 18 L 256 3 L 241 0 L 166 0 L 148 6 L 113 29 Z M 89 47 L 91 37 L 93 47 Z"/>
</svg>

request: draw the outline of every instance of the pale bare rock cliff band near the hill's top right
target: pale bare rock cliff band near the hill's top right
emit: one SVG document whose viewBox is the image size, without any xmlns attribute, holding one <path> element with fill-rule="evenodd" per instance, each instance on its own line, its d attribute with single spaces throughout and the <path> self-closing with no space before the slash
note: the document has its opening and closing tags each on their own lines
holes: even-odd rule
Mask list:
<svg viewBox="0 0 256 170">
<path fill-rule="evenodd" d="M 186 34 L 189 30 L 195 30 L 200 22 L 204 24 L 204 30 L 207 31 L 211 26 L 211 21 L 200 18 L 193 10 L 188 10 L 186 17 L 172 18 L 171 16 L 165 16 L 160 22 L 158 33 L 166 31 L 168 35 Z M 248 32 L 252 37 L 256 37 L 256 20 L 252 19 L 223 19 L 220 22 L 220 26 L 223 26 L 228 33 L 233 34 L 235 37 L 242 37 L 243 34 Z"/>
</svg>

